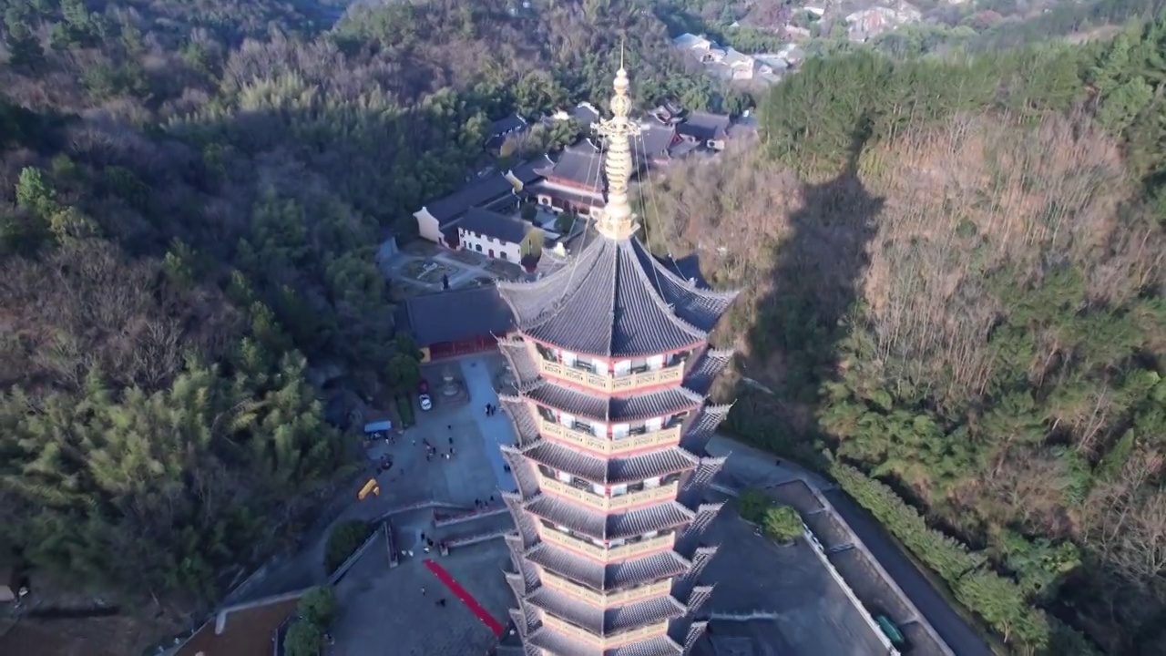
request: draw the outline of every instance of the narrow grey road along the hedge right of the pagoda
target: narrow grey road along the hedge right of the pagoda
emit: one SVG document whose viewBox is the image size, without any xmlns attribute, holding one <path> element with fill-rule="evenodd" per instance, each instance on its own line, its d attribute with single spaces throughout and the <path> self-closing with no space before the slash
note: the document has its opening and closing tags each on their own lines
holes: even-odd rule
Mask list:
<svg viewBox="0 0 1166 656">
<path fill-rule="evenodd" d="M 714 437 L 708 451 L 712 455 L 732 454 L 725 463 L 725 473 L 742 486 L 766 488 L 800 479 L 821 491 L 838 517 L 862 540 L 868 554 L 883 566 L 956 656 L 992 656 L 992 650 L 976 630 L 932 587 L 883 528 L 837 486 L 786 461 L 778 465 L 774 455 L 724 435 Z"/>
</svg>

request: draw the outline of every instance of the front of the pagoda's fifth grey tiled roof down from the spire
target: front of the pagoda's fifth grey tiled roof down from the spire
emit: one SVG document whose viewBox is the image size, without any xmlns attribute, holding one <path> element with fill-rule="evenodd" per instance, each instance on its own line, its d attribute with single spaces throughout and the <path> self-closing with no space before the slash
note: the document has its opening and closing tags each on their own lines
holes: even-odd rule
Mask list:
<svg viewBox="0 0 1166 656">
<path fill-rule="evenodd" d="M 605 565 L 546 543 L 527 550 L 526 558 L 560 577 L 599 592 L 612 592 L 668 577 L 679 577 L 688 572 L 693 565 L 674 551 Z"/>
</svg>

